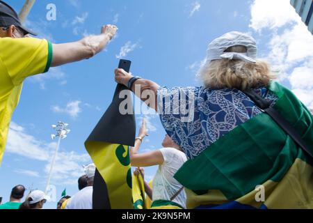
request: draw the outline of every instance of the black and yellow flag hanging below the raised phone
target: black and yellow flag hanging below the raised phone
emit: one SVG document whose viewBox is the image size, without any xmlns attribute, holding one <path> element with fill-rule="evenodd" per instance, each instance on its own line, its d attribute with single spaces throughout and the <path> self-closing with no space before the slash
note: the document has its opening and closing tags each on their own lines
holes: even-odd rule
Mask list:
<svg viewBox="0 0 313 223">
<path fill-rule="evenodd" d="M 134 114 L 123 115 L 119 111 L 121 102 L 125 100 L 119 98 L 121 91 L 128 92 L 127 100 L 131 102 L 131 91 L 118 84 L 111 105 L 85 142 L 97 167 L 93 185 L 94 209 L 134 207 L 129 146 L 134 146 L 136 123 Z"/>
</svg>

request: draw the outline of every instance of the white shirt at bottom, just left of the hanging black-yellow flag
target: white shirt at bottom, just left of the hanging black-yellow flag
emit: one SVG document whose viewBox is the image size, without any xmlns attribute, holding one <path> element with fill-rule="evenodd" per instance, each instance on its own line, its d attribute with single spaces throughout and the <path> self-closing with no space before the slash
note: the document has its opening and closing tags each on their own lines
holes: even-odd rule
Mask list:
<svg viewBox="0 0 313 223">
<path fill-rule="evenodd" d="M 65 209 L 93 209 L 93 187 L 85 187 L 71 197 Z"/>
</svg>

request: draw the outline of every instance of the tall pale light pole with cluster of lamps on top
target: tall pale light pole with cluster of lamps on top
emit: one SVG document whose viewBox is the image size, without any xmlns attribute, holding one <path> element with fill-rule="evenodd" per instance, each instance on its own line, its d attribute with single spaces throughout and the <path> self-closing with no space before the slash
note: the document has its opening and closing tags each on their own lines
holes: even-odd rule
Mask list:
<svg viewBox="0 0 313 223">
<path fill-rule="evenodd" d="M 54 130 L 56 130 L 56 134 L 51 134 L 51 139 L 55 139 L 58 137 L 58 144 L 56 144 L 56 150 L 54 151 L 54 157 L 52 158 L 51 161 L 51 166 L 50 166 L 50 171 L 47 179 L 47 185 L 45 189 L 45 194 L 47 194 L 49 185 L 50 185 L 50 180 L 52 176 L 52 170 L 54 168 L 54 162 L 56 161 L 56 155 L 58 154 L 58 148 L 60 148 L 61 144 L 61 139 L 65 139 L 67 137 L 67 134 L 70 132 L 70 130 L 67 129 L 67 123 L 63 123 L 62 121 L 58 121 L 57 125 L 51 125 Z"/>
</svg>

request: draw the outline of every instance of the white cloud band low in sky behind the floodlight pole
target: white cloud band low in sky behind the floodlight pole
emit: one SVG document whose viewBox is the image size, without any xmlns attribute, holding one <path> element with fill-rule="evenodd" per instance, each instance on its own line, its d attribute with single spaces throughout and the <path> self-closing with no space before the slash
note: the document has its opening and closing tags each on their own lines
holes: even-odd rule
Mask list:
<svg viewBox="0 0 313 223">
<path fill-rule="evenodd" d="M 46 176 L 50 170 L 51 157 L 55 148 L 55 142 L 47 143 L 36 139 L 33 135 L 26 132 L 22 126 L 14 122 L 10 123 L 6 151 L 31 160 L 45 162 L 44 168 L 38 167 L 38 171 L 17 169 L 17 173 L 28 176 L 40 176 L 39 173 L 43 169 Z M 52 171 L 51 183 L 61 185 L 77 184 L 77 179 L 83 175 L 82 164 L 90 162 L 90 157 L 87 153 L 78 154 L 74 151 L 63 151 L 61 145 Z"/>
</svg>

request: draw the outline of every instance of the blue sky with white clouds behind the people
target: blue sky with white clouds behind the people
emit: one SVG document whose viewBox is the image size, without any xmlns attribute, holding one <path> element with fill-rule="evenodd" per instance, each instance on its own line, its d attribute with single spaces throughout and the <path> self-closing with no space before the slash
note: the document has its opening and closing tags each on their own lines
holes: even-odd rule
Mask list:
<svg viewBox="0 0 313 223">
<path fill-rule="evenodd" d="M 23 1 L 6 1 L 17 11 Z M 56 21 L 47 21 L 48 3 L 56 5 Z M 250 33 L 259 57 L 269 61 L 279 81 L 313 109 L 313 38 L 288 0 L 71 0 L 36 1 L 26 22 L 52 43 L 79 40 L 116 24 L 118 36 L 93 59 L 51 68 L 24 82 L 13 114 L 0 169 L 0 197 L 8 201 L 14 185 L 45 190 L 49 162 L 56 146 L 51 124 L 65 121 L 72 132 L 61 142 L 51 184 L 57 199 L 66 187 L 77 192 L 82 164 L 90 158 L 83 142 L 109 106 L 118 58 L 133 61 L 131 72 L 161 86 L 200 85 L 195 74 L 208 43 L 227 31 Z M 148 119 L 150 136 L 141 151 L 161 148 L 164 130 L 157 116 Z M 142 116 L 136 116 L 138 123 Z M 145 169 L 147 178 L 157 167 Z M 48 202 L 45 208 L 55 208 Z"/>
</svg>

